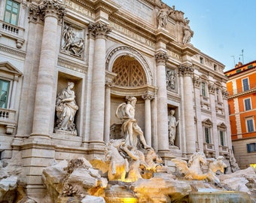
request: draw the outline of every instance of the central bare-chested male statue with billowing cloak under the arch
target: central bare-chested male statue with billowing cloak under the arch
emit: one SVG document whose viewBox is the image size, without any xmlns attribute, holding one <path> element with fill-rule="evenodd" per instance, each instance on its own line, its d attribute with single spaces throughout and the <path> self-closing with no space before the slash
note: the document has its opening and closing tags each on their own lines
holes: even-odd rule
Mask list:
<svg viewBox="0 0 256 203">
<path fill-rule="evenodd" d="M 125 135 L 126 145 L 137 147 L 139 140 L 145 149 L 151 148 L 146 144 L 142 129 L 138 126 L 135 119 L 136 97 L 126 97 L 127 103 L 122 103 L 117 107 L 116 117 L 123 120 L 121 131 Z M 138 138 L 139 136 L 139 138 Z"/>
</svg>

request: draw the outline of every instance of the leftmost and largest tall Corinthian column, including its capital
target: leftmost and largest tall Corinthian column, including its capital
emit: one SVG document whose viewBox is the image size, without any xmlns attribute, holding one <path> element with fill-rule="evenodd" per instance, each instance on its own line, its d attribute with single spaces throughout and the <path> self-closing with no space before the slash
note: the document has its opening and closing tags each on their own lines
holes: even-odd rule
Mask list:
<svg viewBox="0 0 256 203">
<path fill-rule="evenodd" d="M 44 17 L 41 57 L 35 95 L 35 111 L 31 136 L 49 138 L 53 127 L 53 86 L 58 48 L 58 20 L 65 14 L 65 8 L 53 0 L 44 0 L 38 6 L 38 13 Z"/>
</svg>

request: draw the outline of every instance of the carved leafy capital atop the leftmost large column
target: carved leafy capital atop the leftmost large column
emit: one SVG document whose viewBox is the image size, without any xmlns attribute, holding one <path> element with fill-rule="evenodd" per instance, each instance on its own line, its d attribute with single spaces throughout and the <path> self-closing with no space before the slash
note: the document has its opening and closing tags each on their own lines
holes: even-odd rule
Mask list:
<svg viewBox="0 0 256 203">
<path fill-rule="evenodd" d="M 65 14 L 65 6 L 59 4 L 56 0 L 44 0 L 38 5 L 38 10 L 44 17 L 53 16 L 61 20 Z"/>
</svg>

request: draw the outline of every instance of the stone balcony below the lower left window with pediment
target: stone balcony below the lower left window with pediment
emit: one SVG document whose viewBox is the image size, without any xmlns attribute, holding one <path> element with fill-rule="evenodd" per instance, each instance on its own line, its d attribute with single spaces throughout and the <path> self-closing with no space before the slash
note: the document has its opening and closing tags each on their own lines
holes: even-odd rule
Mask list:
<svg viewBox="0 0 256 203">
<path fill-rule="evenodd" d="M 6 108 L 0 108 L 0 127 L 5 127 L 6 134 L 13 134 L 16 127 L 15 121 L 16 111 Z"/>
</svg>

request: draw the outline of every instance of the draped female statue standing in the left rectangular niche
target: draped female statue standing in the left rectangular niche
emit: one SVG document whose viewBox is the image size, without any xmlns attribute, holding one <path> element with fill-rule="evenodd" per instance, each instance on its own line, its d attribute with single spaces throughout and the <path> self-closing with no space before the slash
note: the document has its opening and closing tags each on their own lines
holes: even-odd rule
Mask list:
<svg viewBox="0 0 256 203">
<path fill-rule="evenodd" d="M 78 105 L 75 102 L 75 92 L 72 90 L 74 83 L 69 82 L 67 88 L 62 89 L 56 97 L 56 127 L 55 132 L 64 131 L 77 134 L 75 129 L 75 114 Z"/>
</svg>

